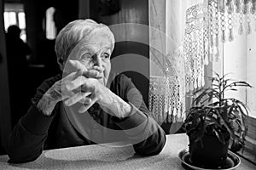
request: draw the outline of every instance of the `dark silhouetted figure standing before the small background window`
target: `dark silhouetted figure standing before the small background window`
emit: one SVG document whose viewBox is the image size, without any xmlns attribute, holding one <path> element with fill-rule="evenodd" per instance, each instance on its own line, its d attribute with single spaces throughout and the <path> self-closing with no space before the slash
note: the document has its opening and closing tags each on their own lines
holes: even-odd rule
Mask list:
<svg viewBox="0 0 256 170">
<path fill-rule="evenodd" d="M 28 105 L 27 93 L 27 60 L 26 55 L 31 49 L 20 39 L 20 28 L 9 26 L 6 34 L 6 49 L 9 68 L 9 92 L 12 124 L 20 119 L 20 113 L 25 113 Z"/>
</svg>

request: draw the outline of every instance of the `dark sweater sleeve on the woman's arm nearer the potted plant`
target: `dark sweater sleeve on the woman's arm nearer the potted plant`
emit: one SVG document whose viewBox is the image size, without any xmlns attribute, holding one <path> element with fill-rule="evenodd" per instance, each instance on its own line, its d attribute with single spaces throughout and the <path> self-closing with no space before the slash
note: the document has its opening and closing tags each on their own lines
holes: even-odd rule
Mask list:
<svg viewBox="0 0 256 170">
<path fill-rule="evenodd" d="M 131 105 L 132 112 L 131 116 L 123 119 L 114 117 L 113 122 L 125 131 L 137 154 L 142 156 L 159 154 L 166 144 L 164 130 L 149 116 L 149 111 L 143 99 L 141 98 L 142 100 L 137 102 L 137 99 L 140 99 L 138 96 L 141 94 L 131 80 L 124 76 L 120 81 L 122 90 L 124 90 L 122 97 Z M 126 96 L 130 97 L 127 99 Z"/>
</svg>

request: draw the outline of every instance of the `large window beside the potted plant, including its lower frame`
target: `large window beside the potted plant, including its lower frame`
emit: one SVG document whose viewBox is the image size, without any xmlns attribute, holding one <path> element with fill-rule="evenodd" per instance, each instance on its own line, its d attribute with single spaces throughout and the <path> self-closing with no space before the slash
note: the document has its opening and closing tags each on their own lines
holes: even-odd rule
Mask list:
<svg viewBox="0 0 256 170">
<path fill-rule="evenodd" d="M 252 20 L 253 31 L 251 34 L 244 32 L 241 35 L 236 34 L 232 42 L 224 43 L 224 55 L 218 63 L 212 63 L 213 71 L 221 75 L 230 73 L 230 77 L 236 80 L 242 80 L 250 83 L 253 88 L 240 88 L 238 92 L 230 91 L 227 94 L 230 97 L 241 99 L 249 108 L 249 117 L 247 118 L 248 132 L 245 150 L 240 153 L 251 161 L 256 161 L 256 21 Z"/>
</svg>

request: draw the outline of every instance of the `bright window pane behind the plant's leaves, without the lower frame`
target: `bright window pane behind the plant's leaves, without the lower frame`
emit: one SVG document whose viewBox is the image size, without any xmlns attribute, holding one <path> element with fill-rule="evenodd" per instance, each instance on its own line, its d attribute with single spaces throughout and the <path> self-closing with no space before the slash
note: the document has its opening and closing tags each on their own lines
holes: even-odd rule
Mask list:
<svg viewBox="0 0 256 170">
<path fill-rule="evenodd" d="M 256 32 L 236 35 L 232 42 L 224 43 L 224 57 L 213 63 L 213 70 L 220 74 L 230 73 L 230 77 L 250 83 L 253 88 L 241 88 L 228 95 L 241 99 L 250 109 L 249 116 L 256 118 Z"/>
</svg>

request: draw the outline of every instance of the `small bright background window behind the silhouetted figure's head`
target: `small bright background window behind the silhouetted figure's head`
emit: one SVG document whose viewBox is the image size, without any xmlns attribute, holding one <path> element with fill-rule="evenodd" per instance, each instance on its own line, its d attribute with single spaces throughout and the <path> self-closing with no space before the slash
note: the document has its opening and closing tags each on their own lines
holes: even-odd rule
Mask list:
<svg viewBox="0 0 256 170">
<path fill-rule="evenodd" d="M 26 42 L 26 18 L 23 5 L 20 3 L 6 3 L 3 17 L 5 31 L 9 26 L 19 26 L 21 30 L 20 38 Z"/>
</svg>

